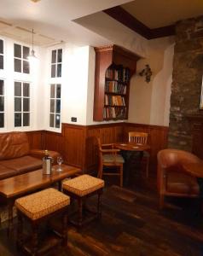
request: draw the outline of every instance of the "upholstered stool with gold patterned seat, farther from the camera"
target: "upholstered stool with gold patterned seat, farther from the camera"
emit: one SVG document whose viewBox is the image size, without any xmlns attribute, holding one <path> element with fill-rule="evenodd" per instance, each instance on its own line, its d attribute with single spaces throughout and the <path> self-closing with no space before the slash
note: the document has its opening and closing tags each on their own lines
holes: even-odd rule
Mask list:
<svg viewBox="0 0 203 256">
<path fill-rule="evenodd" d="M 81 227 L 90 220 L 101 217 L 101 195 L 103 187 L 104 181 L 101 178 L 92 177 L 87 174 L 75 177 L 62 183 L 63 192 L 67 195 L 70 195 L 71 198 L 78 200 L 78 219 L 74 220 L 73 218 L 69 218 L 69 221 L 72 224 Z M 87 197 L 96 194 L 98 195 L 97 211 L 92 212 L 85 206 L 85 201 Z M 89 218 L 84 218 L 85 211 L 91 213 Z"/>
</svg>

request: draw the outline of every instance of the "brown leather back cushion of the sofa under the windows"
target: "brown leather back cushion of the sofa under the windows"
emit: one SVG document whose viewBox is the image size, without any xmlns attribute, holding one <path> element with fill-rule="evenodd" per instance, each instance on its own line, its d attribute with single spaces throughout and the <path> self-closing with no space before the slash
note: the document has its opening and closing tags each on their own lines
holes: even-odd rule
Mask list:
<svg viewBox="0 0 203 256">
<path fill-rule="evenodd" d="M 29 154 L 26 132 L 0 133 L 0 160 L 9 160 Z"/>
</svg>

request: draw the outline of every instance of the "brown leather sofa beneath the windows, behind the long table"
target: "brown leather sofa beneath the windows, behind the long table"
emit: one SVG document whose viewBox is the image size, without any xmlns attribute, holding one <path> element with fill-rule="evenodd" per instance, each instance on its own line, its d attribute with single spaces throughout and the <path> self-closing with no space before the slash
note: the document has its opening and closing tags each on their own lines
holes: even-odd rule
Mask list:
<svg viewBox="0 0 203 256">
<path fill-rule="evenodd" d="M 59 155 L 49 151 L 54 159 Z M 0 179 L 38 170 L 44 150 L 30 149 L 26 132 L 0 133 Z"/>
</svg>

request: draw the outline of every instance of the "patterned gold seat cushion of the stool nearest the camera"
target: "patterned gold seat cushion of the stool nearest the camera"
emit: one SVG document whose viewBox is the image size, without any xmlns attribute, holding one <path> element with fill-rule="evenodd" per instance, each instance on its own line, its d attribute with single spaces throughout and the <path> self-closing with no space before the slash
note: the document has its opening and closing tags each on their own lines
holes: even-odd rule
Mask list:
<svg viewBox="0 0 203 256">
<path fill-rule="evenodd" d="M 17 199 L 14 203 L 20 212 L 32 220 L 42 218 L 70 204 L 70 197 L 56 189 L 44 189 Z"/>
</svg>

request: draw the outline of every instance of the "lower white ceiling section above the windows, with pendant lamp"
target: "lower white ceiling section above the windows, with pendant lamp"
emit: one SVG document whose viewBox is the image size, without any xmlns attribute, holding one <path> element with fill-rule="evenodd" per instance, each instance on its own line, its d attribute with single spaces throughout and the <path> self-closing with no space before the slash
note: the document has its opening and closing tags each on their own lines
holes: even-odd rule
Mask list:
<svg viewBox="0 0 203 256">
<path fill-rule="evenodd" d="M 36 1 L 34 1 L 36 2 Z M 0 34 L 34 44 L 51 45 L 65 41 L 71 44 L 102 45 L 109 40 L 90 32 L 72 20 L 129 0 L 1 0 Z"/>
</svg>

